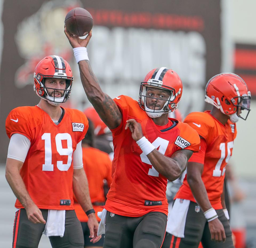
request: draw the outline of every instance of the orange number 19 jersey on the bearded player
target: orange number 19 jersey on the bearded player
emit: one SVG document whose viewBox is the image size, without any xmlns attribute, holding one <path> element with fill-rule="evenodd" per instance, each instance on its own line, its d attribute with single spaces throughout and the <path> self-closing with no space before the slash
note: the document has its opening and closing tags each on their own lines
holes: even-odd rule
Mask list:
<svg viewBox="0 0 256 248">
<path fill-rule="evenodd" d="M 79 110 L 63 109 L 58 125 L 38 106 L 18 107 L 6 118 L 9 138 L 19 133 L 31 142 L 20 174 L 41 209 L 74 209 L 73 151 L 85 137 L 88 120 Z M 18 199 L 15 207 L 23 208 Z"/>
</svg>

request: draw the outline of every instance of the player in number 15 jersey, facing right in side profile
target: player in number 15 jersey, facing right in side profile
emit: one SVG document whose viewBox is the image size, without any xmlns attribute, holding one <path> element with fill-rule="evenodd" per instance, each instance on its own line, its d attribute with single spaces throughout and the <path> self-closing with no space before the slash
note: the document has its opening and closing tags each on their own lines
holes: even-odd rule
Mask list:
<svg viewBox="0 0 256 248">
<path fill-rule="evenodd" d="M 241 77 L 221 73 L 205 88 L 205 101 L 211 111 L 190 113 L 184 120 L 197 130 L 200 151 L 193 154 L 187 174 L 175 196 L 169 214 L 163 248 L 234 247 L 229 214 L 224 199 L 226 164 L 236 137 L 235 122 L 246 120 L 251 94 Z M 217 243 L 218 241 L 219 243 Z"/>
</svg>

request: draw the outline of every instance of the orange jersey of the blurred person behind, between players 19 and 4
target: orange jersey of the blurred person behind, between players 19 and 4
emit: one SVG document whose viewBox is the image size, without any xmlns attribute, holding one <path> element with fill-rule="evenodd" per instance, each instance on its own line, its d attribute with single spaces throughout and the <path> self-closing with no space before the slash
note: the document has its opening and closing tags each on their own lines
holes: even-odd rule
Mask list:
<svg viewBox="0 0 256 248">
<path fill-rule="evenodd" d="M 104 205 L 106 198 L 104 195 L 103 180 L 106 179 L 109 186 L 112 182 L 112 162 L 109 155 L 93 147 L 83 147 L 83 167 L 88 180 L 91 202 L 102 202 L 102 205 Z M 76 200 L 74 207 L 79 221 L 87 222 L 88 217 Z M 102 207 L 93 204 L 93 208 L 97 220 L 100 221 L 101 219 L 97 216 L 97 212 L 102 211 Z"/>
</svg>

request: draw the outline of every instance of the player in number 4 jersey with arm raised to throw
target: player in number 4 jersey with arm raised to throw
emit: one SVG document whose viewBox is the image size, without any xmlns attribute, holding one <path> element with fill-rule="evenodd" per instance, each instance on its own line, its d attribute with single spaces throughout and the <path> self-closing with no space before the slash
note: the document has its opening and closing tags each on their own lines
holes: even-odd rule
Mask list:
<svg viewBox="0 0 256 248">
<path fill-rule="evenodd" d="M 86 46 L 92 33 L 84 40 L 66 28 L 65 34 L 87 98 L 113 134 L 113 182 L 99 227 L 99 234 L 105 233 L 103 247 L 161 247 L 168 213 L 167 179 L 177 179 L 200 146 L 193 128 L 168 119 L 181 99 L 181 79 L 169 68 L 153 69 L 141 82 L 139 101 L 125 95 L 111 99 L 90 67 Z"/>
</svg>

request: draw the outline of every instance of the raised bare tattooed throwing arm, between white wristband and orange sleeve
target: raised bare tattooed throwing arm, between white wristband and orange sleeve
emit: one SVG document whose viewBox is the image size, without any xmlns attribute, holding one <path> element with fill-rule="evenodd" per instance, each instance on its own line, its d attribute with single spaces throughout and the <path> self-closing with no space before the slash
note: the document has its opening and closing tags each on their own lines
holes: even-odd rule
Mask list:
<svg viewBox="0 0 256 248">
<path fill-rule="evenodd" d="M 110 129 L 118 127 L 122 121 L 122 114 L 113 99 L 101 90 L 98 79 L 94 75 L 89 61 L 80 61 L 79 70 L 87 98 L 101 117 L 102 121 Z"/>
</svg>

